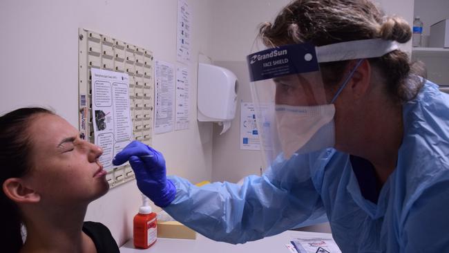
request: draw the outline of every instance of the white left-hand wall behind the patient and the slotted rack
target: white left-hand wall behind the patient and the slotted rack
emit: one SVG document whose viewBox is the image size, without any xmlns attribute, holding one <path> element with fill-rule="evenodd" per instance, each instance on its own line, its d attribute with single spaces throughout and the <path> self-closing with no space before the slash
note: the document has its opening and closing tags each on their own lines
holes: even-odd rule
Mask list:
<svg viewBox="0 0 449 253">
<path fill-rule="evenodd" d="M 210 7 L 188 1 L 192 12 L 190 129 L 155 135 L 169 174 L 193 182 L 211 178 L 211 124 L 196 121 L 198 53 L 209 54 Z M 52 106 L 78 126 L 78 28 L 88 28 L 153 50 L 176 63 L 177 1 L 81 0 L 0 1 L 0 114 L 20 106 Z M 201 133 L 201 134 L 200 134 Z M 111 189 L 88 207 L 86 220 L 100 221 L 121 245 L 132 234 L 140 206 L 135 181 Z"/>
</svg>

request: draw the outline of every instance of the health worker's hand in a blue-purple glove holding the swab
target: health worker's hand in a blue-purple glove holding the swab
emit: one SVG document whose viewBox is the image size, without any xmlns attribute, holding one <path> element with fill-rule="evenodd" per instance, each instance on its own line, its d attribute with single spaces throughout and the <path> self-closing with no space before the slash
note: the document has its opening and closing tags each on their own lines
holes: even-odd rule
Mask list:
<svg viewBox="0 0 449 253">
<path fill-rule="evenodd" d="M 113 159 L 113 165 L 122 165 L 129 160 L 134 170 L 137 187 L 155 205 L 166 207 L 175 198 L 176 188 L 166 179 L 165 160 L 162 153 L 142 142 L 133 141 Z"/>
</svg>

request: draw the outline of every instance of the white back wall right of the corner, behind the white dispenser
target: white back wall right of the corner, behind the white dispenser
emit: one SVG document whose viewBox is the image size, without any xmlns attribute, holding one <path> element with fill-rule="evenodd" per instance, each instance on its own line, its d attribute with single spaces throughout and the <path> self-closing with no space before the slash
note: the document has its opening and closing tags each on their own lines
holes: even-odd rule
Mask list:
<svg viewBox="0 0 449 253">
<path fill-rule="evenodd" d="M 240 101 L 251 102 L 246 56 L 251 53 L 258 25 L 273 21 L 288 0 L 213 0 L 211 58 L 214 64 L 233 71 L 238 77 L 238 104 L 231 129 L 219 135 L 214 125 L 212 179 L 238 182 L 249 174 L 260 174 L 260 151 L 240 150 Z"/>
</svg>

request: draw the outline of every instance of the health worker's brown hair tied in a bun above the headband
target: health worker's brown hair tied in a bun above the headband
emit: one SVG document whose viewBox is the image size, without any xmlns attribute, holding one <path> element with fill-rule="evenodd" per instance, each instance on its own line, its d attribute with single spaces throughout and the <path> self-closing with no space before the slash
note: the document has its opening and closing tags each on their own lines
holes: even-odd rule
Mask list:
<svg viewBox="0 0 449 253">
<path fill-rule="evenodd" d="M 260 25 L 259 36 L 266 46 L 309 42 L 324 46 L 343 41 L 376 39 L 405 43 L 412 37 L 408 23 L 400 17 L 386 17 L 369 0 L 296 0 L 280 11 L 273 24 Z M 426 77 L 421 63 L 411 63 L 408 55 L 394 50 L 369 59 L 385 79 L 394 100 L 414 98 Z M 337 84 L 350 61 L 320 64 L 325 84 Z"/>
</svg>

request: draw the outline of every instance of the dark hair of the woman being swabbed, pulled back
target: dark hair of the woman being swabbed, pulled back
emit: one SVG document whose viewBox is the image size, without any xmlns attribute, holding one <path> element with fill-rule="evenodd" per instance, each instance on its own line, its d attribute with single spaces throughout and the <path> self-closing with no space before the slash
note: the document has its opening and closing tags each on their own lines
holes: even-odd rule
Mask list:
<svg viewBox="0 0 449 253">
<path fill-rule="evenodd" d="M 30 171 L 30 136 L 28 127 L 39 113 L 54 114 L 43 108 L 22 108 L 0 117 L 0 182 L 3 186 L 8 178 L 20 178 Z M 21 238 L 21 216 L 17 205 L 3 190 L 0 193 L 1 229 L 0 245 L 5 252 L 19 252 Z"/>
</svg>

